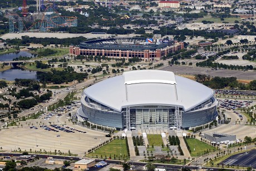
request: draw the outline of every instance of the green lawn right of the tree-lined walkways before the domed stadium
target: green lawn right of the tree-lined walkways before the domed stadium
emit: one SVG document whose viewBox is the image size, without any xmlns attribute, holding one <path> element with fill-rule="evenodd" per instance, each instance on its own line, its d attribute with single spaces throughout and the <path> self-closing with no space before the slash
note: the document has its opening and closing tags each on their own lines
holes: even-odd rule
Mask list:
<svg viewBox="0 0 256 171">
<path fill-rule="evenodd" d="M 188 138 L 186 141 L 188 142 L 188 145 L 191 149 L 191 156 L 202 156 L 204 152 L 207 151 L 207 149 L 211 152 L 215 149 L 213 146 L 210 146 L 209 144 L 206 144 L 205 142 L 195 138 Z"/>
</svg>

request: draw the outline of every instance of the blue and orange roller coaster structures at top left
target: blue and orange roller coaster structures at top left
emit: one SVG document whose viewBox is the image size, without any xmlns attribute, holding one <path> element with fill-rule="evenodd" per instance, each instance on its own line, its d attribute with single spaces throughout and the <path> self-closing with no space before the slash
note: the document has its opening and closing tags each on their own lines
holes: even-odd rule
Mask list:
<svg viewBox="0 0 256 171">
<path fill-rule="evenodd" d="M 16 13 L 9 13 L 9 33 L 22 33 L 22 32 L 48 32 L 51 28 L 57 27 L 77 27 L 77 17 L 66 17 L 59 14 L 53 6 L 46 7 L 45 11 L 41 14 L 41 18 L 37 22 L 33 22 L 31 26 L 26 27 L 24 21 L 28 20 L 29 14 L 27 8 L 27 0 L 22 0 L 23 17 Z M 39 3 L 38 3 L 39 1 Z M 43 4 L 43 0 L 37 0 L 38 6 Z M 38 14 L 40 13 L 40 7 Z M 33 14 L 32 14 L 33 15 Z"/>
</svg>

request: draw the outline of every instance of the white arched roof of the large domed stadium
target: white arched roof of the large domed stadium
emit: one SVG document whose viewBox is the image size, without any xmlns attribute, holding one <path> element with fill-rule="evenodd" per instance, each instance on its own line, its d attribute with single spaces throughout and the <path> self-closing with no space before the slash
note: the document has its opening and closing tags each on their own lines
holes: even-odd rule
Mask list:
<svg viewBox="0 0 256 171">
<path fill-rule="evenodd" d="M 126 106 L 180 106 L 185 111 L 214 95 L 208 87 L 170 71 L 127 71 L 85 89 L 91 99 L 121 111 Z"/>
</svg>

